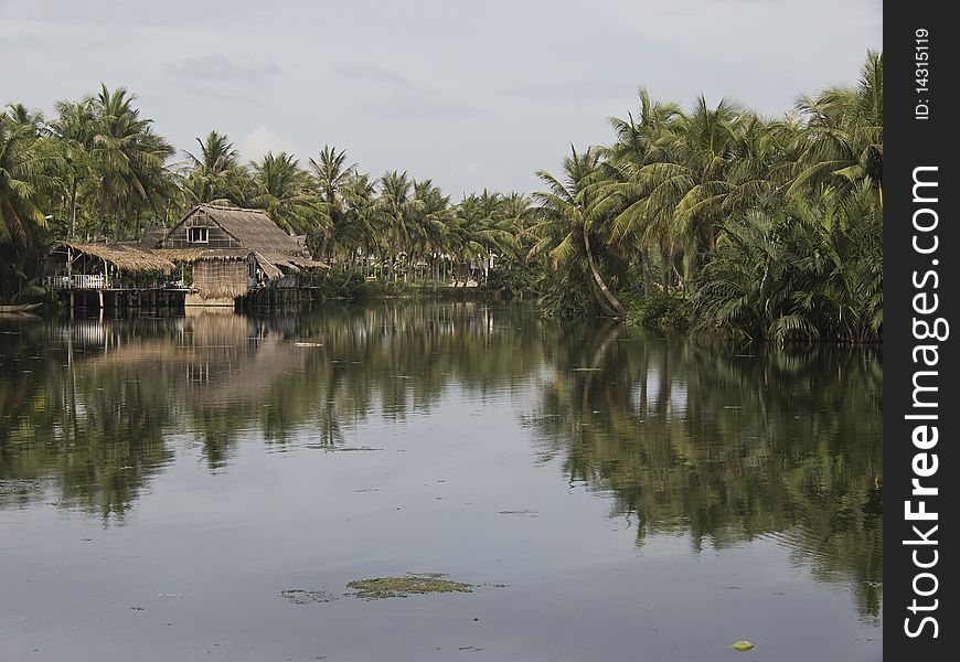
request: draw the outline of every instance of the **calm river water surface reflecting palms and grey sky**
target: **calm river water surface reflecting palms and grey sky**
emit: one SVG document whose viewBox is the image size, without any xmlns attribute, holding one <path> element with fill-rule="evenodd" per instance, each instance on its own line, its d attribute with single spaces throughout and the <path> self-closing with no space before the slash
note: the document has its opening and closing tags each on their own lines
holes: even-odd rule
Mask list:
<svg viewBox="0 0 960 662">
<path fill-rule="evenodd" d="M 480 303 L 2 319 L 0 660 L 879 660 L 882 374 Z M 405 573 L 473 592 L 346 587 Z"/>
</svg>

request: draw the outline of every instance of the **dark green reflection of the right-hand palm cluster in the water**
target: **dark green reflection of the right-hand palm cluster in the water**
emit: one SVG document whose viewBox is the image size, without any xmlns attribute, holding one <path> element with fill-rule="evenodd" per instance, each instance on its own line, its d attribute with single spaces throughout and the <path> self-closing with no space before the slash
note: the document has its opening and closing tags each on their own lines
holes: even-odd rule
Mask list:
<svg viewBox="0 0 960 662">
<path fill-rule="evenodd" d="M 608 491 L 638 542 L 698 548 L 771 536 L 877 617 L 883 580 L 883 373 L 872 352 L 802 353 L 583 330 L 547 352 L 527 416 L 545 458 Z"/>
</svg>

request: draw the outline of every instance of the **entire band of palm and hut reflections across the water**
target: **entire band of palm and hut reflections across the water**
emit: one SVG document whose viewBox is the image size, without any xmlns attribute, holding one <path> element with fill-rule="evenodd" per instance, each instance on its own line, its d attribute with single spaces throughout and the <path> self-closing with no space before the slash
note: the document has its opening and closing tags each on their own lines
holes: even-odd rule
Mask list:
<svg viewBox="0 0 960 662">
<path fill-rule="evenodd" d="M 0 508 L 125 513 L 180 445 L 228 470 L 246 439 L 335 447 L 442 396 L 494 391 L 544 462 L 695 548 L 769 537 L 818 579 L 882 600 L 879 357 L 561 328 L 526 309 L 401 305 L 302 318 L 0 327 Z M 457 391 L 459 389 L 459 391 Z"/>
</svg>

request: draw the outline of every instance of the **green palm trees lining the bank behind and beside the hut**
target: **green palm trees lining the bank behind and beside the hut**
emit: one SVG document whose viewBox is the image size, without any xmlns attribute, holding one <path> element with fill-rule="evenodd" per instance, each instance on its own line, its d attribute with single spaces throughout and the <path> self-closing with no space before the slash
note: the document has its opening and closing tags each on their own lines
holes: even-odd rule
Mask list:
<svg viewBox="0 0 960 662">
<path fill-rule="evenodd" d="M 0 113 L 0 301 L 35 297 L 54 239 L 136 239 L 196 203 L 264 210 L 329 278 L 479 285 L 547 314 L 751 339 L 877 341 L 883 328 L 883 56 L 855 86 L 770 119 L 647 90 L 609 145 L 570 148 L 531 195 L 459 201 L 344 149 L 245 163 L 216 130 L 177 152 L 126 88 Z M 338 285 L 338 287 L 340 287 Z M 399 287 L 398 285 L 396 287 Z"/>
</svg>

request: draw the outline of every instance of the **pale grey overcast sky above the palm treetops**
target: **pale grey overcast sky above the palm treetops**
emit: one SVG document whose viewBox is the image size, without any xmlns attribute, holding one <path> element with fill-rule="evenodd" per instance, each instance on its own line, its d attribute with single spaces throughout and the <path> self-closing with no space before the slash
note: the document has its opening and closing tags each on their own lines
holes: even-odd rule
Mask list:
<svg viewBox="0 0 960 662">
<path fill-rule="evenodd" d="M 857 79 L 882 0 L 0 0 L 0 104 L 126 86 L 178 149 L 244 160 L 323 145 L 455 200 L 537 190 L 611 140 L 637 92 L 767 116 Z"/>
</svg>

